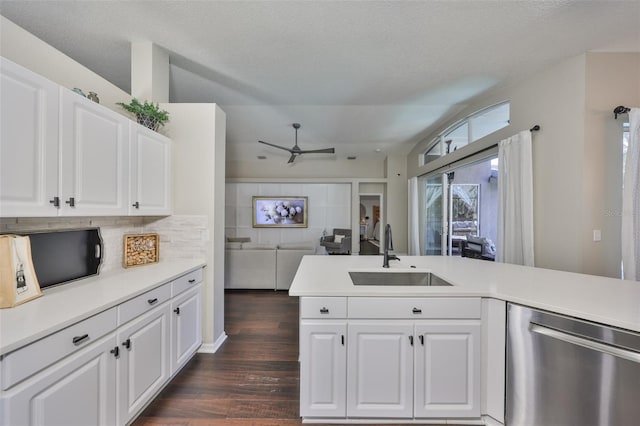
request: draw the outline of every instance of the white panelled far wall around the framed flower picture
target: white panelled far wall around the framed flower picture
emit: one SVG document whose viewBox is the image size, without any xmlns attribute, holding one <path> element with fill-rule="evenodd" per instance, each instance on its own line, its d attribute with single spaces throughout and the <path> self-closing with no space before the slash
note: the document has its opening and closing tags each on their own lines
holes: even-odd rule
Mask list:
<svg viewBox="0 0 640 426">
<path fill-rule="evenodd" d="M 322 231 L 350 228 L 350 183 L 239 182 L 226 184 L 226 235 L 250 237 L 258 243 L 313 241 L 319 245 Z M 308 197 L 307 228 L 253 228 L 253 196 Z"/>
</svg>

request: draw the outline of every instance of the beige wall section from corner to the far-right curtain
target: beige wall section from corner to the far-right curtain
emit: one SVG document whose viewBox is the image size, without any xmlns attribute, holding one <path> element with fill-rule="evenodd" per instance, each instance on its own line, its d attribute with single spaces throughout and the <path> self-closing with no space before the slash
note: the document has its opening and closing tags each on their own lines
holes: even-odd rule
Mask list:
<svg viewBox="0 0 640 426">
<path fill-rule="evenodd" d="M 588 53 L 585 103 L 583 271 L 619 277 L 622 123 L 629 117 L 615 120 L 612 110 L 640 106 L 640 53 Z M 602 241 L 593 241 L 594 229 L 602 231 Z"/>
</svg>

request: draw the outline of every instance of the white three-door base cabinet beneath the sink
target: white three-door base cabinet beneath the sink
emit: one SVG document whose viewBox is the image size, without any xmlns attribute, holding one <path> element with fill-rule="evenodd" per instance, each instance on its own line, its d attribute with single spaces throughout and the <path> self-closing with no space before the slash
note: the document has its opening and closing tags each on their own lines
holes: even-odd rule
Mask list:
<svg viewBox="0 0 640 426">
<path fill-rule="evenodd" d="M 345 298 L 318 299 L 324 307 L 340 306 L 339 299 Z M 301 308 L 302 417 L 480 417 L 479 299 L 443 299 L 440 302 L 451 307 L 444 314 L 439 308 L 430 309 L 433 303 L 440 306 L 435 298 L 422 305 L 395 299 L 385 305 L 390 318 L 366 313 L 367 301 L 357 299 L 356 303 L 349 299 L 343 320 L 323 320 L 313 310 Z M 372 301 L 375 306 L 381 303 L 380 299 Z M 301 306 L 306 305 L 309 303 L 301 301 Z M 397 312 L 394 305 L 400 307 Z M 409 319 L 414 316 L 420 319 Z"/>
</svg>

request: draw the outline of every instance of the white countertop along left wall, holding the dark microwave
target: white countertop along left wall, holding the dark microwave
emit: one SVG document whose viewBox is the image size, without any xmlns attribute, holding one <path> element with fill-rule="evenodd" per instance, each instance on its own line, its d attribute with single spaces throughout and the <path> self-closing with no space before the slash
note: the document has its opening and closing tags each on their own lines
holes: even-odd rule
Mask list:
<svg viewBox="0 0 640 426">
<path fill-rule="evenodd" d="M 162 261 L 47 288 L 14 308 L 0 309 L 0 355 L 47 336 L 205 265 Z"/>
</svg>

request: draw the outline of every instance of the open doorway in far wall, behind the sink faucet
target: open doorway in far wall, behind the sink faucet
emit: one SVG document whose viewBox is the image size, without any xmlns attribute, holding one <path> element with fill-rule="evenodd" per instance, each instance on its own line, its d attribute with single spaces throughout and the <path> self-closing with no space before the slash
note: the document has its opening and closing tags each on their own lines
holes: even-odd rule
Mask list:
<svg viewBox="0 0 640 426">
<path fill-rule="evenodd" d="M 384 247 L 382 203 L 382 194 L 360 194 L 360 255 L 377 255 Z"/>
</svg>

